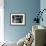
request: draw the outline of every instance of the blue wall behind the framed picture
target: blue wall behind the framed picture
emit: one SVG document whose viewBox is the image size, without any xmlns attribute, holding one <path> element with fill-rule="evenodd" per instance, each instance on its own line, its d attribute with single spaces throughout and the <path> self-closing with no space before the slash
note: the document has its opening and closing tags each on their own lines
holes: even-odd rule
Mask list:
<svg viewBox="0 0 46 46">
<path fill-rule="evenodd" d="M 4 0 L 4 36 L 5 40 L 18 41 L 32 29 L 35 12 L 40 9 L 40 0 Z M 26 25 L 11 26 L 10 13 L 24 12 Z"/>
</svg>

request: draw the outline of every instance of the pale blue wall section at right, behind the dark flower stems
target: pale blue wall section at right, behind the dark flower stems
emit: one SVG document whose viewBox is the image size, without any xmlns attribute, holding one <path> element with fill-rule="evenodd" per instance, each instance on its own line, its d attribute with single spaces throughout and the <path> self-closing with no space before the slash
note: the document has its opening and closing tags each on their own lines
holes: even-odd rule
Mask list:
<svg viewBox="0 0 46 46">
<path fill-rule="evenodd" d="M 42 11 L 43 9 L 46 9 L 46 0 L 41 0 L 40 1 L 40 10 Z M 46 10 L 43 12 L 43 22 L 40 22 L 40 25 L 45 26 L 46 27 Z"/>
</svg>

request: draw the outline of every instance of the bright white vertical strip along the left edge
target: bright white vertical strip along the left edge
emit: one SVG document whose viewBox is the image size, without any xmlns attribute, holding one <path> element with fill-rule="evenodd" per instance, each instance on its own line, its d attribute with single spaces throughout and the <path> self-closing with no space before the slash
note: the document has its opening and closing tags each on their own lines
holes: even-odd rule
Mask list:
<svg viewBox="0 0 46 46">
<path fill-rule="evenodd" d="M 0 42 L 4 41 L 4 0 L 0 0 Z"/>
</svg>

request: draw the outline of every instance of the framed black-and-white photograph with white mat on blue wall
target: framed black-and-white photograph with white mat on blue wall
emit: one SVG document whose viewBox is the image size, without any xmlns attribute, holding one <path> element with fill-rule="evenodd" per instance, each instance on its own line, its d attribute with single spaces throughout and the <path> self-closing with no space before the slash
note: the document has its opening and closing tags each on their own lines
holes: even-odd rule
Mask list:
<svg viewBox="0 0 46 46">
<path fill-rule="evenodd" d="M 11 14 L 12 25 L 25 25 L 25 14 Z"/>
</svg>

